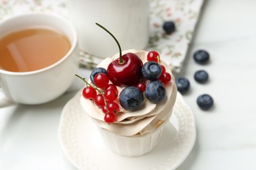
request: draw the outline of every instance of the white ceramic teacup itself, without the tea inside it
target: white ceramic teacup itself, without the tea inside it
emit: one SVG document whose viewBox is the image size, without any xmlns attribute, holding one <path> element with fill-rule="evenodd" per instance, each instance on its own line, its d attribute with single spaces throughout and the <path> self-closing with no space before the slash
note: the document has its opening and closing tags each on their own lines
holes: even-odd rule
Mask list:
<svg viewBox="0 0 256 170">
<path fill-rule="evenodd" d="M 77 35 L 68 20 L 55 14 L 43 13 L 14 16 L 1 22 L 0 38 L 12 30 L 28 27 L 53 27 L 66 35 L 71 48 L 63 58 L 43 69 L 28 72 L 0 69 L 0 90 L 6 97 L 0 101 L 0 107 L 8 105 L 8 101 L 29 105 L 51 101 L 68 90 L 78 69 Z"/>
</svg>

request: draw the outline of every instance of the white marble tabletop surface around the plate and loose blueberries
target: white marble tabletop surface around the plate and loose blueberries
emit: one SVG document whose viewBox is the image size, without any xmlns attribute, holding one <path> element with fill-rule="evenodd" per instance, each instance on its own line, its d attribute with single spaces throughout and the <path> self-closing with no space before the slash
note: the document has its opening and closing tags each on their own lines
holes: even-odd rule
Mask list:
<svg viewBox="0 0 256 170">
<path fill-rule="evenodd" d="M 196 35 L 182 72 L 190 80 L 184 95 L 196 118 L 197 139 L 192 152 L 178 168 L 193 170 L 256 169 L 256 1 L 205 1 Z M 192 54 L 205 49 L 207 65 Z M 205 69 L 207 84 L 194 73 Z M 89 70 L 79 69 L 89 76 Z M 67 93 L 43 105 L 16 105 L 0 109 L 0 169 L 75 169 L 58 141 L 62 108 L 83 83 L 77 79 Z M 215 105 L 203 111 L 196 98 L 209 93 Z"/>
</svg>

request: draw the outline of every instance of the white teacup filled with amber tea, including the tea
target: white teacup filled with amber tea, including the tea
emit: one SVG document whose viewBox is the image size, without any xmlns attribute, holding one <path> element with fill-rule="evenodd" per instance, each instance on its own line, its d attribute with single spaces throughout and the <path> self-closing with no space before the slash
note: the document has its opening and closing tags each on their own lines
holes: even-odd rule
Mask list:
<svg viewBox="0 0 256 170">
<path fill-rule="evenodd" d="M 35 12 L 0 23 L 0 88 L 8 101 L 55 99 L 68 90 L 78 65 L 77 35 L 65 18 Z"/>
</svg>

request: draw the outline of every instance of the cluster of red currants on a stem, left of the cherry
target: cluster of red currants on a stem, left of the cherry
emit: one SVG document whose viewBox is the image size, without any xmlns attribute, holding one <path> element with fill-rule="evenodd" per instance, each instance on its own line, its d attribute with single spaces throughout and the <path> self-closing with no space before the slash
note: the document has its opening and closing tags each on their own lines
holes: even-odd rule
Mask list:
<svg viewBox="0 0 256 170">
<path fill-rule="evenodd" d="M 95 85 L 89 84 L 85 78 L 81 78 L 87 85 L 82 92 L 85 99 L 93 100 L 95 105 L 104 112 L 104 121 L 112 124 L 116 121 L 116 113 L 119 112 L 119 105 L 116 103 L 118 90 L 116 85 L 109 84 L 108 75 L 98 73 L 95 75 Z"/>
</svg>

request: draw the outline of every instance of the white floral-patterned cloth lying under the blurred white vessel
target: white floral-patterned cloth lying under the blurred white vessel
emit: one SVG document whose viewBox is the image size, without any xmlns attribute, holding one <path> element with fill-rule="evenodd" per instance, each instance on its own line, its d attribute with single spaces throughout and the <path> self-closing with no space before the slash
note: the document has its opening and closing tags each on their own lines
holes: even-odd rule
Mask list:
<svg viewBox="0 0 256 170">
<path fill-rule="evenodd" d="M 172 71 L 179 72 L 200 15 L 203 0 L 150 0 L 150 41 L 144 50 L 157 50 Z M 0 0 L 0 20 L 24 12 L 54 12 L 66 16 L 65 0 Z M 176 31 L 164 33 L 165 21 L 175 22 Z M 81 66 L 92 69 L 102 58 L 80 52 Z"/>
</svg>

